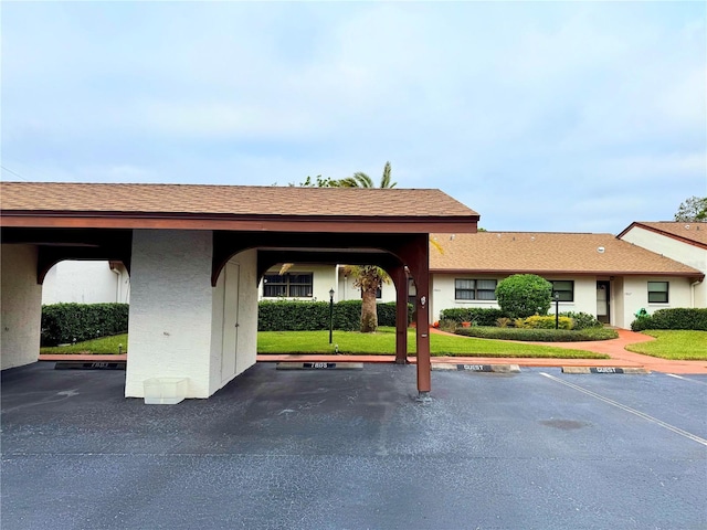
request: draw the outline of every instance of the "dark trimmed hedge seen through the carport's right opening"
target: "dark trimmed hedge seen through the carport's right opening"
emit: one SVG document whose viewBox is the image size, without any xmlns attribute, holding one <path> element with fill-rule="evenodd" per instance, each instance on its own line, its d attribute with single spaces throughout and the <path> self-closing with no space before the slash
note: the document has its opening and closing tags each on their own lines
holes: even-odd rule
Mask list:
<svg viewBox="0 0 707 530">
<path fill-rule="evenodd" d="M 395 326 L 395 303 L 380 303 L 378 325 Z M 408 304 L 408 324 L 412 321 L 412 304 Z M 334 329 L 358 331 L 361 325 L 361 300 L 334 304 Z M 329 329 L 328 301 L 263 300 L 257 305 L 258 331 L 317 331 Z"/>
</svg>

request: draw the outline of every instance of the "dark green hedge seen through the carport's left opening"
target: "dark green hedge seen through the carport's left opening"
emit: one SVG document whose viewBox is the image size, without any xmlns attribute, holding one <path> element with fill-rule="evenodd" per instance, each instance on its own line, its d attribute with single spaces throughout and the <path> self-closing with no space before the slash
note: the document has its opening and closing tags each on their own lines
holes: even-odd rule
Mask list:
<svg viewBox="0 0 707 530">
<path fill-rule="evenodd" d="M 81 342 L 125 333 L 128 304 L 52 304 L 42 306 L 42 346 Z"/>
</svg>

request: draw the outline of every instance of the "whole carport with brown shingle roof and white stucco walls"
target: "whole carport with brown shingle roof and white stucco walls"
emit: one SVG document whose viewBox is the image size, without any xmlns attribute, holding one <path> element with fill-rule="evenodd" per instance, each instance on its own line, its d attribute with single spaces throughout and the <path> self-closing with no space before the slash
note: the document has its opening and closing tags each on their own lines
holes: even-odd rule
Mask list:
<svg viewBox="0 0 707 530">
<path fill-rule="evenodd" d="M 282 262 L 371 264 L 393 279 L 398 362 L 416 285 L 418 391 L 430 382 L 429 234 L 476 232 L 440 190 L 3 182 L 2 369 L 36 361 L 41 284 L 62 259 L 130 273 L 126 396 L 150 378 L 208 398 L 255 363 L 257 284 Z"/>
</svg>

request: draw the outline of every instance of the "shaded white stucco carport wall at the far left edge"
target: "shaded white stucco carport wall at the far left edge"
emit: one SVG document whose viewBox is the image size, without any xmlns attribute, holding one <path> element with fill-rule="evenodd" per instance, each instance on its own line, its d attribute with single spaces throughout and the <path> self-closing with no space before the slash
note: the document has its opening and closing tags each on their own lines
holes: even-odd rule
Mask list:
<svg viewBox="0 0 707 530">
<path fill-rule="evenodd" d="M 33 245 L 2 245 L 0 369 L 35 362 L 40 353 L 42 286 Z"/>
</svg>

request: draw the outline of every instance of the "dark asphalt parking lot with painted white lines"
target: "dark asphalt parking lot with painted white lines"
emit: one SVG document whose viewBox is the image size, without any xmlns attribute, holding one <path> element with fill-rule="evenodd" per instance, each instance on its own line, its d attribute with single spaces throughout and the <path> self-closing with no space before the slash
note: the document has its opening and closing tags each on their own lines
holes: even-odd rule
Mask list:
<svg viewBox="0 0 707 530">
<path fill-rule="evenodd" d="M 207 401 L 2 373 L 3 529 L 705 529 L 707 375 L 279 371 Z"/>
</svg>

